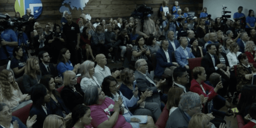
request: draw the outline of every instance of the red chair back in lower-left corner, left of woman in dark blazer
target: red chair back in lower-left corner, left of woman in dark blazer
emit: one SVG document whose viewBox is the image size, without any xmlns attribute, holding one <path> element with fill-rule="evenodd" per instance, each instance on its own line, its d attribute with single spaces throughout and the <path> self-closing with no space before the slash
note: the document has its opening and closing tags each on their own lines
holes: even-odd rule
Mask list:
<svg viewBox="0 0 256 128">
<path fill-rule="evenodd" d="M 23 124 L 26 124 L 26 120 L 29 118 L 29 111 L 32 103 L 12 112 L 12 116 L 18 117 Z"/>
</svg>

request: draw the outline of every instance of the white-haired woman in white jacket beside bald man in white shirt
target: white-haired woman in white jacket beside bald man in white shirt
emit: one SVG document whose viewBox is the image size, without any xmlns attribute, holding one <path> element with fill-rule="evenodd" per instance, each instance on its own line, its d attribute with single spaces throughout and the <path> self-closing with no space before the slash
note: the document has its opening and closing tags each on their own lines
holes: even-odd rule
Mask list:
<svg viewBox="0 0 256 128">
<path fill-rule="evenodd" d="M 94 62 L 90 60 L 84 61 L 80 65 L 79 72 L 81 73 L 81 89 L 83 92 L 85 92 L 86 88 L 88 86 L 97 86 L 98 88 L 101 88 L 101 85 L 97 81 L 96 77 L 94 77 L 95 68 L 94 68 Z"/>
</svg>

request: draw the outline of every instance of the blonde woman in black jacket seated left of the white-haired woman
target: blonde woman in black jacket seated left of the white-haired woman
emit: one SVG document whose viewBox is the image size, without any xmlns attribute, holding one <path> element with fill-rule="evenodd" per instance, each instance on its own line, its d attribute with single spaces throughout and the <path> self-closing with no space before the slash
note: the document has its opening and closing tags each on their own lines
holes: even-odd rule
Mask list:
<svg viewBox="0 0 256 128">
<path fill-rule="evenodd" d="M 64 72 L 63 85 L 61 98 L 69 110 L 84 103 L 84 92 L 81 90 L 80 84 L 76 82 L 75 72 L 70 70 Z"/>
</svg>

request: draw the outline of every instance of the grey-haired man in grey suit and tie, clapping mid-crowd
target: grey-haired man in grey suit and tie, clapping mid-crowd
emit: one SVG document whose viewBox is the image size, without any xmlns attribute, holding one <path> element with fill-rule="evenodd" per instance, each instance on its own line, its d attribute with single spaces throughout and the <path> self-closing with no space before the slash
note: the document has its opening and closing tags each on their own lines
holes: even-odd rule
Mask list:
<svg viewBox="0 0 256 128">
<path fill-rule="evenodd" d="M 137 60 L 135 63 L 136 71 L 134 72 L 135 80 L 137 82 L 138 90 L 144 92 L 153 91 L 151 97 L 146 98 L 146 102 L 157 102 L 161 110 L 164 108 L 164 104 L 161 101 L 167 102 L 167 95 L 160 92 L 159 88 L 166 80 L 160 80 L 160 82 L 155 83 L 154 79 L 148 73 L 148 63 L 144 59 Z"/>
</svg>

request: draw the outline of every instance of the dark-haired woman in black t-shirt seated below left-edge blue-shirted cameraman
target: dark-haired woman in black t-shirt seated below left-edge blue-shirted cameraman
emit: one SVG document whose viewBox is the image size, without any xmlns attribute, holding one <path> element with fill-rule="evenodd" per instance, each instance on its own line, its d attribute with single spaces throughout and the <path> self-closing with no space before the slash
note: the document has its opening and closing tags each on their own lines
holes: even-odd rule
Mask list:
<svg viewBox="0 0 256 128">
<path fill-rule="evenodd" d="M 26 60 L 23 58 L 23 50 L 17 46 L 13 48 L 12 54 L 14 58 L 11 61 L 11 68 L 15 78 L 22 77 L 25 71 Z"/>
</svg>

